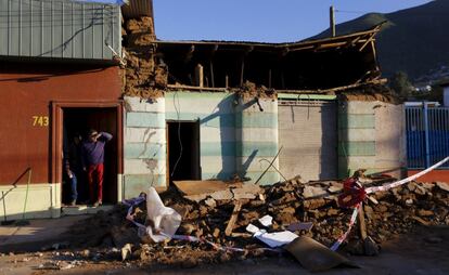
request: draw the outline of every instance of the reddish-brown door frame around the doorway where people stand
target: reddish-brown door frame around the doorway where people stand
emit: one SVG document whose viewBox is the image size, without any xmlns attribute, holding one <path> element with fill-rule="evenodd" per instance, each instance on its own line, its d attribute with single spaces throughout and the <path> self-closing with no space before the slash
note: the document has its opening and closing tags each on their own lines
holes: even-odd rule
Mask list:
<svg viewBox="0 0 449 275">
<path fill-rule="evenodd" d="M 63 121 L 64 113 L 63 108 L 115 108 L 117 112 L 117 175 L 124 173 L 124 104 L 123 101 L 111 101 L 111 102 L 82 102 L 82 101 L 54 101 L 51 102 L 51 139 L 50 139 L 50 148 L 51 148 L 51 161 L 50 161 L 50 171 L 51 171 L 51 183 L 56 183 L 60 185 L 62 191 L 62 155 L 63 155 Z M 118 178 L 118 176 L 117 176 Z M 120 185 L 121 181 L 117 179 L 117 185 Z M 120 192 L 121 187 L 117 186 L 117 202 L 121 197 Z M 62 197 L 61 197 L 62 200 Z M 61 204 L 61 201 L 60 201 Z"/>
</svg>

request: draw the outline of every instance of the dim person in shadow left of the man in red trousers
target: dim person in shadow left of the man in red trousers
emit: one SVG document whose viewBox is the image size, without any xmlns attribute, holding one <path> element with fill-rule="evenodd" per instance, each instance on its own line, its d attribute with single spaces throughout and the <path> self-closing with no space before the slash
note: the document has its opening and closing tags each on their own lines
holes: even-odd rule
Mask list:
<svg viewBox="0 0 449 275">
<path fill-rule="evenodd" d="M 70 185 L 70 206 L 75 206 L 78 198 L 78 182 L 81 175 L 81 135 L 76 133 L 64 154 L 64 168 L 67 182 Z"/>
</svg>

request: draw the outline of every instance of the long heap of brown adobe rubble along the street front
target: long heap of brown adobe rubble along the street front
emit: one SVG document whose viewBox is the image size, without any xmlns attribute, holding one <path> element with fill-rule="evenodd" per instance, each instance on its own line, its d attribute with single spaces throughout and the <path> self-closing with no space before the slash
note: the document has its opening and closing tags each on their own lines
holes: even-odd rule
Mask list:
<svg viewBox="0 0 449 275">
<path fill-rule="evenodd" d="M 216 250 L 208 244 L 171 240 L 167 245 L 154 244 L 147 236 L 139 238 L 136 225 L 125 220 L 127 209 L 123 206 L 117 206 L 112 212 L 98 213 L 89 221 L 90 226 L 75 226 L 72 234 L 78 236 L 76 239 L 82 240 L 77 245 L 126 248 L 126 259 L 137 258 L 146 261 L 157 258 L 158 262 L 170 264 L 174 261 L 172 256 L 176 254 L 182 256 L 179 259 L 184 259 L 187 254 L 194 253 L 198 259 L 203 259 L 201 261 L 220 262 L 224 258 L 229 260 L 232 257 L 270 253 L 260 250 L 266 245 L 246 231 L 249 224 L 264 227 L 267 232 L 291 230 L 298 236 L 311 237 L 329 247 L 346 232 L 352 213 L 352 209 L 337 206 L 337 195 L 342 189 L 342 182 L 302 183 L 299 179 L 293 179 L 264 186 L 253 198 L 239 200 L 234 199 L 235 194 L 239 194 L 238 189 L 232 188 L 230 193 L 233 197 L 214 195 L 188 199 L 189 196 L 183 196 L 175 187 L 161 194 L 164 205 L 174 208 L 182 217 L 177 235 L 205 238 L 218 246 L 248 249 L 244 254 L 231 256 Z M 242 206 L 236 212 L 231 234 L 227 234 L 228 223 L 238 202 Z M 372 194 L 364 202 L 368 235 L 381 244 L 394 234 L 411 231 L 418 224 L 449 224 L 448 206 L 449 185 L 446 183 L 411 182 L 387 192 Z M 145 204 L 136 207 L 133 212 L 137 222 L 151 224 L 146 219 Z M 264 226 L 259 219 L 267 214 L 272 217 L 272 222 Z M 292 226 L 295 224 L 299 226 Z M 311 226 L 302 227 L 300 224 Z M 357 248 L 359 239 L 359 230 L 356 226 L 348 237 L 348 244 L 343 248 L 357 253 L 360 250 Z"/>
</svg>

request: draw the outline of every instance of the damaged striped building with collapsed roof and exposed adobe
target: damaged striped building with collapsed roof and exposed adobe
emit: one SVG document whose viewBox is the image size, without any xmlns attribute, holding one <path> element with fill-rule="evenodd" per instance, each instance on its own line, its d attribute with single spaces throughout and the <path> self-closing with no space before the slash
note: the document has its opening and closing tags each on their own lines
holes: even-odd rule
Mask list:
<svg viewBox="0 0 449 275">
<path fill-rule="evenodd" d="M 131 43 L 125 196 L 174 180 L 272 184 L 360 168 L 400 175 L 403 106 L 380 78 L 379 30 L 293 43 Z M 153 74 L 142 75 L 140 62 Z"/>
</svg>

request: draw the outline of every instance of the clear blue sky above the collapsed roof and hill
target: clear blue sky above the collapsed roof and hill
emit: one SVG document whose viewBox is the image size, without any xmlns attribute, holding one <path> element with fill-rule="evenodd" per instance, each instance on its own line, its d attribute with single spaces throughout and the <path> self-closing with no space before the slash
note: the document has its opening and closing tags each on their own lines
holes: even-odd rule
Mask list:
<svg viewBox="0 0 449 275">
<path fill-rule="evenodd" d="M 369 12 L 390 13 L 429 0 L 153 0 L 162 40 L 291 42 Z"/>
</svg>

